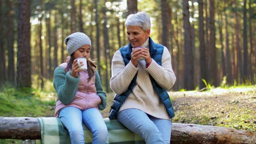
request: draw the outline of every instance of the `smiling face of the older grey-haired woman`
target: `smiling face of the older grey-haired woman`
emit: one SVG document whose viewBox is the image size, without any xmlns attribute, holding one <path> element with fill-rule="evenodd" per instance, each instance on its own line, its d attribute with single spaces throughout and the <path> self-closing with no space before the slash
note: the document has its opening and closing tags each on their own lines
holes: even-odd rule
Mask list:
<svg viewBox="0 0 256 144">
<path fill-rule="evenodd" d="M 144 32 L 139 26 L 126 26 L 127 38 L 133 48 L 144 44 L 150 35 L 150 29 Z"/>
</svg>

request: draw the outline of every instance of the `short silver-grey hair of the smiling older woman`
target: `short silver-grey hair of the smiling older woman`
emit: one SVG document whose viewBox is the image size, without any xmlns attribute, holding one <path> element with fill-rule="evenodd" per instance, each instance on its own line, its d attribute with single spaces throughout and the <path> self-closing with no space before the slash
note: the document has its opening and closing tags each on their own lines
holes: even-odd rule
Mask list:
<svg viewBox="0 0 256 144">
<path fill-rule="evenodd" d="M 124 24 L 125 26 L 139 26 L 144 32 L 151 28 L 150 16 L 146 12 L 130 14 Z"/>
</svg>

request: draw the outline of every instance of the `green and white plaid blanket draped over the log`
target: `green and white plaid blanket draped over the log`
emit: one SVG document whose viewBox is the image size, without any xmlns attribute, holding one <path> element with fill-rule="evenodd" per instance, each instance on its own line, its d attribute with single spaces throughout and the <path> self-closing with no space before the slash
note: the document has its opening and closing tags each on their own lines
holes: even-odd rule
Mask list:
<svg viewBox="0 0 256 144">
<path fill-rule="evenodd" d="M 38 118 L 42 140 L 36 140 L 36 144 L 71 144 L 68 130 L 59 118 Z M 145 144 L 144 140 L 134 132 L 125 128 L 116 119 L 104 118 L 108 128 L 106 144 Z M 92 143 L 92 132 L 83 124 L 85 144 Z"/>
</svg>

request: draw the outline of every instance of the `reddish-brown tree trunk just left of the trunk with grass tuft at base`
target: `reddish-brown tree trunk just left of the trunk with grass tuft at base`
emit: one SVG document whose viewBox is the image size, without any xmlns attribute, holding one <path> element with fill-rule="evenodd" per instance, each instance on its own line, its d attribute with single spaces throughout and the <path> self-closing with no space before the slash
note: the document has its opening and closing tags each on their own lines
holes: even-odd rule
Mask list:
<svg viewBox="0 0 256 144">
<path fill-rule="evenodd" d="M 186 90 L 194 90 L 194 56 L 192 52 L 192 41 L 190 39 L 191 26 L 189 22 L 188 0 L 183 0 L 183 22 L 184 22 L 184 49 L 185 49 L 185 86 Z"/>
</svg>

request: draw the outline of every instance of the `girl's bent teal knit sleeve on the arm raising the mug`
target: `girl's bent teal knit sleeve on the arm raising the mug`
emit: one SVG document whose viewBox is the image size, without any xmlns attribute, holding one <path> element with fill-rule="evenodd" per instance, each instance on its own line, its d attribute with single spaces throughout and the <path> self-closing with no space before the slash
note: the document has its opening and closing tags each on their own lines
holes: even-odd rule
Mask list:
<svg viewBox="0 0 256 144">
<path fill-rule="evenodd" d="M 60 66 L 54 70 L 53 86 L 60 102 L 65 105 L 72 102 L 76 95 L 79 81 L 78 76 L 76 78 L 72 77 L 70 72 L 66 73 L 64 68 Z"/>
</svg>

